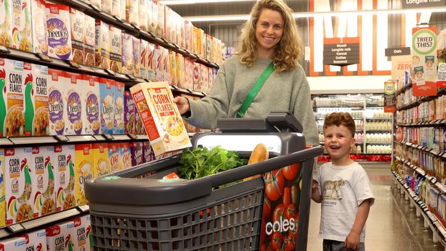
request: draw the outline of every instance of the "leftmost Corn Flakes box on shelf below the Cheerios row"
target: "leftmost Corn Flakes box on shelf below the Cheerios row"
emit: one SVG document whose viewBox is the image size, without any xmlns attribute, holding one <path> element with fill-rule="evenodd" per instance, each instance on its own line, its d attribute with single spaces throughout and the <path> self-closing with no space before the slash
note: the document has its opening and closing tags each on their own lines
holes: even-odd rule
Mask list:
<svg viewBox="0 0 446 251">
<path fill-rule="evenodd" d="M 32 180 L 34 172 L 30 160 L 32 147 L 5 148 L 6 224 L 24 222 L 34 217 Z"/>
</svg>

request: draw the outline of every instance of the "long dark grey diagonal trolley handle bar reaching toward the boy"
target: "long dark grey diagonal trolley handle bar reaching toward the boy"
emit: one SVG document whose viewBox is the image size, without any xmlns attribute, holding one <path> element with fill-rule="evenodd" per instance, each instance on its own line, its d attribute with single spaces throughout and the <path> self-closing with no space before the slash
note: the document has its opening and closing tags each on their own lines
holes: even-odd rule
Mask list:
<svg viewBox="0 0 446 251">
<path fill-rule="evenodd" d="M 206 176 L 197 180 L 201 180 L 201 182 L 209 182 L 212 187 L 218 187 L 222 184 L 228 184 L 237 180 L 242 180 L 243 178 L 255 176 L 256 174 L 264 174 L 268 171 L 279 169 L 280 167 L 286 167 L 287 165 L 310 160 L 322 155 L 323 153 L 324 148 L 318 145 L 309 149 L 293 152 L 292 154 L 287 154 L 285 156 L 270 158 L 269 160 L 265 160 L 263 162 L 222 171 L 218 174 Z"/>
</svg>

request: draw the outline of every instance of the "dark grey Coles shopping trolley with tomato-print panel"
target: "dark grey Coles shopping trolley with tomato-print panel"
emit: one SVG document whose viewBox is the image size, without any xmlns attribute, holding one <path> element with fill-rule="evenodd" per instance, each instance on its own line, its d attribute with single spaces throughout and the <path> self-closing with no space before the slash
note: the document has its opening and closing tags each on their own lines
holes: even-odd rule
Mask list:
<svg viewBox="0 0 446 251">
<path fill-rule="evenodd" d="M 218 127 L 195 134 L 193 147 L 220 145 L 249 158 L 263 143 L 270 158 L 196 180 L 165 179 L 178 173 L 178 154 L 87 181 L 95 250 L 306 250 L 322 147 L 307 149 L 289 112 Z M 242 181 L 256 174 L 263 176 Z"/>
</svg>

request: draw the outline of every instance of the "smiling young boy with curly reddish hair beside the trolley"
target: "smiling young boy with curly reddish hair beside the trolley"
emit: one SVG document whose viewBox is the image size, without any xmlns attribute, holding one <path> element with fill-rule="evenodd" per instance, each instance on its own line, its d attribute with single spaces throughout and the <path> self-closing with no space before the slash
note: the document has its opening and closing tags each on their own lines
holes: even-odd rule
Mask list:
<svg viewBox="0 0 446 251">
<path fill-rule="evenodd" d="M 331 162 L 320 167 L 312 187 L 312 199 L 322 203 L 324 251 L 364 250 L 364 225 L 375 199 L 366 171 L 349 155 L 354 135 L 355 121 L 348 112 L 325 117 L 324 145 Z"/>
</svg>

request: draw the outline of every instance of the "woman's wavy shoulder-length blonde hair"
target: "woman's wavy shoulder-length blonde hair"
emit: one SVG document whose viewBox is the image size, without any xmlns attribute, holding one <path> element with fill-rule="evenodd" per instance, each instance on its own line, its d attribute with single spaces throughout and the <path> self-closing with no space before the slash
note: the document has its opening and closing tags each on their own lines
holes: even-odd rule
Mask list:
<svg viewBox="0 0 446 251">
<path fill-rule="evenodd" d="M 274 69 L 279 72 L 290 71 L 298 64 L 303 55 L 303 44 L 298 34 L 296 21 L 292 17 L 292 10 L 282 0 L 260 0 L 255 3 L 250 13 L 250 19 L 244 25 L 242 44 L 239 48 L 240 62 L 252 67 L 257 59 L 257 38 L 255 26 L 263 9 L 276 10 L 281 13 L 284 21 L 283 35 L 274 48 Z"/>
</svg>

